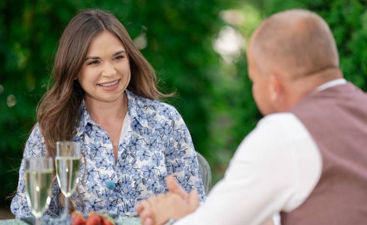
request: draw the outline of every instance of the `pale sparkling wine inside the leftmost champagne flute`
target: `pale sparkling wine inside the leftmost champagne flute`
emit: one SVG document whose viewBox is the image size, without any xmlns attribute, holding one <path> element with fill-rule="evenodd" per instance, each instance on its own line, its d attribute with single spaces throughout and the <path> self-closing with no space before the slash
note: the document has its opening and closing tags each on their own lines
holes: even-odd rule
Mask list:
<svg viewBox="0 0 367 225">
<path fill-rule="evenodd" d="M 25 170 L 25 188 L 28 205 L 35 217 L 41 217 L 49 204 L 52 169 Z"/>
</svg>

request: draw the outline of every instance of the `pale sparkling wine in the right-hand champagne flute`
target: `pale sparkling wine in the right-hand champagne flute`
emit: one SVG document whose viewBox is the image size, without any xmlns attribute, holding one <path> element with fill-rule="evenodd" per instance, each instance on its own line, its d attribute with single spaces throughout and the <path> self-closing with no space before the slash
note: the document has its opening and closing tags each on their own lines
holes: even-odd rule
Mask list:
<svg viewBox="0 0 367 225">
<path fill-rule="evenodd" d="M 56 177 L 65 197 L 70 197 L 79 176 L 80 157 L 56 157 Z"/>
</svg>

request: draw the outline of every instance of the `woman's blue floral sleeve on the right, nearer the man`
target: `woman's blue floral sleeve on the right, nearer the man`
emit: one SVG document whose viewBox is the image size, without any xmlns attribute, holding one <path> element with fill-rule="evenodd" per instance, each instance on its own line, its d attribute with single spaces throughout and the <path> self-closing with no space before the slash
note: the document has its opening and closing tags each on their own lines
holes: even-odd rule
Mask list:
<svg viewBox="0 0 367 225">
<path fill-rule="evenodd" d="M 203 202 L 206 199 L 204 184 L 191 135 L 183 118 L 174 108 L 172 117 L 170 144 L 165 152 L 167 172 L 176 178 L 186 192 L 192 188 L 197 189 L 200 201 Z"/>
</svg>

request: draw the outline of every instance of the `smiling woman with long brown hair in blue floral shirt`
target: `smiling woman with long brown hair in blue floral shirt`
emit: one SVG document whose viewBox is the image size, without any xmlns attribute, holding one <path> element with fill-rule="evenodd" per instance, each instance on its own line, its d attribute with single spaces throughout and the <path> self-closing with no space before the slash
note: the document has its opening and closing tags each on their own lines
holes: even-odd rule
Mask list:
<svg viewBox="0 0 367 225">
<path fill-rule="evenodd" d="M 186 191 L 203 183 L 190 134 L 181 115 L 157 101 L 153 68 L 110 13 L 93 9 L 65 28 L 55 57 L 54 85 L 41 100 L 25 145 L 17 218 L 31 212 L 25 198 L 24 159 L 55 157 L 55 142 L 82 143 L 82 163 L 69 210 L 135 216 L 135 205 L 166 192 L 173 174 Z M 113 185 L 111 185 L 111 183 Z M 112 186 L 112 187 L 111 187 Z M 60 215 L 64 197 L 57 181 L 47 214 Z"/>
</svg>

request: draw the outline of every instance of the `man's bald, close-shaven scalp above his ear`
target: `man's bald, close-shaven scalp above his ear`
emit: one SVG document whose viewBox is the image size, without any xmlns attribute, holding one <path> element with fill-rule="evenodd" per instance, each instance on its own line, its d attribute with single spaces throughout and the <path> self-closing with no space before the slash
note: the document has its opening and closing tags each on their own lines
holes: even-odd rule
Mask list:
<svg viewBox="0 0 367 225">
<path fill-rule="evenodd" d="M 308 10 L 287 10 L 269 17 L 255 31 L 251 48 L 265 74 L 278 72 L 293 80 L 339 68 L 329 26 Z"/>
</svg>

